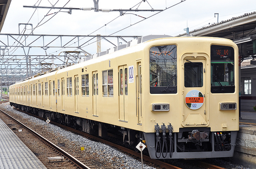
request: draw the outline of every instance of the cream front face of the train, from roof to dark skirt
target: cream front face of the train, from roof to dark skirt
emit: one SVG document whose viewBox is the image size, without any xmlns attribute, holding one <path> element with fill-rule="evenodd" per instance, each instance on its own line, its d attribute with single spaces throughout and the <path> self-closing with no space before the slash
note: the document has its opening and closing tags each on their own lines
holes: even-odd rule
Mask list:
<svg viewBox="0 0 256 169">
<path fill-rule="evenodd" d="M 235 43 L 181 37 L 147 44 L 137 106 L 142 104 L 143 120 L 149 122 L 143 125 L 150 157 L 233 156 L 239 130 Z"/>
</svg>

